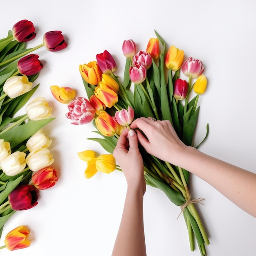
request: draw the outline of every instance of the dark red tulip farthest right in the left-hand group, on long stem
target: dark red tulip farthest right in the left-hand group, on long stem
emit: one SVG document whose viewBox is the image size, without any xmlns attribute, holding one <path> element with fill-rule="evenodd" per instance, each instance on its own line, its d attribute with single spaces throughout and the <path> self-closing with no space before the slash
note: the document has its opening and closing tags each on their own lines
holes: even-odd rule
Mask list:
<svg viewBox="0 0 256 256">
<path fill-rule="evenodd" d="M 43 45 L 50 52 L 58 52 L 67 47 L 63 34 L 59 30 L 46 32 L 43 36 Z"/>
</svg>

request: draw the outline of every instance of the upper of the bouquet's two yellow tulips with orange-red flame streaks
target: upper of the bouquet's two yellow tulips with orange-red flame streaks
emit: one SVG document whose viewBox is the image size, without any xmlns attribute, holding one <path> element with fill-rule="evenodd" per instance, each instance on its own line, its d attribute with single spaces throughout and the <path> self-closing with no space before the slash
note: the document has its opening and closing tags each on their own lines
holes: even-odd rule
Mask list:
<svg viewBox="0 0 256 256">
<path fill-rule="evenodd" d="M 99 83 L 99 86 L 95 88 L 94 94 L 108 108 L 114 106 L 118 101 L 118 94 L 104 83 Z"/>
</svg>

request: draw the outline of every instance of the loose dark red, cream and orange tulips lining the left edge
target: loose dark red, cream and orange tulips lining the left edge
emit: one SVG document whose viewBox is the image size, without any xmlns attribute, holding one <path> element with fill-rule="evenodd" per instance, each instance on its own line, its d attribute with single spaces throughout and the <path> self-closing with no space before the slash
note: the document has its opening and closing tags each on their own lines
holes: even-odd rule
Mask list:
<svg viewBox="0 0 256 256">
<path fill-rule="evenodd" d="M 58 181 L 56 170 L 50 167 L 54 162 L 48 149 L 52 140 L 42 130 L 54 119 L 52 108 L 44 97 L 27 104 L 39 86 L 33 83 L 43 68 L 39 56 L 29 53 L 43 46 L 55 52 L 67 44 L 61 31 L 49 31 L 42 44 L 26 49 L 25 42 L 35 36 L 34 24 L 20 20 L 0 40 L 0 237 L 16 211 L 36 206 L 38 191 Z M 26 113 L 16 116 L 23 106 Z M 27 228 L 17 227 L 6 235 L 0 249 L 28 247 L 28 235 Z"/>
</svg>

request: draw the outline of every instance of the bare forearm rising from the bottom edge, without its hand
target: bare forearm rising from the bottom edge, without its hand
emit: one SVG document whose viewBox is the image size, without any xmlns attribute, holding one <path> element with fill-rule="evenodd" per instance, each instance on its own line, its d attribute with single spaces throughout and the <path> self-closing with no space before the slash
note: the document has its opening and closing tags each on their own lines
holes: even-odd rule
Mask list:
<svg viewBox="0 0 256 256">
<path fill-rule="evenodd" d="M 146 256 L 141 188 L 129 187 L 112 256 Z"/>
</svg>

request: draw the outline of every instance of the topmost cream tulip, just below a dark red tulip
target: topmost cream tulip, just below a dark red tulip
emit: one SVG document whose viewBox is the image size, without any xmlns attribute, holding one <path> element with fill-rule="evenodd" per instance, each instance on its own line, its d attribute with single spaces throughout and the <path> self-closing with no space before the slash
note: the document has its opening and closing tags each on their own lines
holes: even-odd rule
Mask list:
<svg viewBox="0 0 256 256">
<path fill-rule="evenodd" d="M 11 76 L 3 86 L 3 91 L 10 98 L 16 98 L 31 90 L 32 83 L 29 82 L 27 76 Z"/>
</svg>

